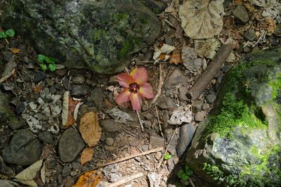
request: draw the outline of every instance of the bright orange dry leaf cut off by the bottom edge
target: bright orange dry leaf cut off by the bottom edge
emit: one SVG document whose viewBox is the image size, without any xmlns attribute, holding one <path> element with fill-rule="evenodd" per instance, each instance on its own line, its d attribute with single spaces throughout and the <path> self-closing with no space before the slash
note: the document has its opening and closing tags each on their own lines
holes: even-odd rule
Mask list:
<svg viewBox="0 0 281 187">
<path fill-rule="evenodd" d="M 82 174 L 72 187 L 95 187 L 100 179 L 101 176 L 96 174 L 96 170 L 93 170 Z"/>
</svg>

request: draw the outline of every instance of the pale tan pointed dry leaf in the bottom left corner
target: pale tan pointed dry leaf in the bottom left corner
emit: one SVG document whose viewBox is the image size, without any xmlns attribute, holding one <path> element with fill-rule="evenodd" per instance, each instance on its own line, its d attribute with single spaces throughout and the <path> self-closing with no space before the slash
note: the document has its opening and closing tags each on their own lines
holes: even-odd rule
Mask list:
<svg viewBox="0 0 281 187">
<path fill-rule="evenodd" d="M 15 181 L 24 183 L 27 186 L 37 187 L 37 183 L 34 181 L 34 178 L 37 176 L 37 172 L 40 171 L 42 164 L 43 160 L 39 160 L 30 167 L 27 167 L 27 169 L 15 176 Z"/>
</svg>

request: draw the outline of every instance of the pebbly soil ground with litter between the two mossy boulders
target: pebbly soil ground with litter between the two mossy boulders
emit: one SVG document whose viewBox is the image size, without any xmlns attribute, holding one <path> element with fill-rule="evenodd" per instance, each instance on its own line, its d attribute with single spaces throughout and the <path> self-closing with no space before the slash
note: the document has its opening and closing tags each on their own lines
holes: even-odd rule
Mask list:
<svg viewBox="0 0 281 187">
<path fill-rule="evenodd" d="M 63 66 L 58 66 L 54 72 L 44 72 L 38 65 L 37 51 L 25 39 L 17 34 L 12 38 L 1 39 L 0 72 L 4 71 L 9 62 L 16 64 L 11 77 L 1 83 L 1 91 L 11 95 L 8 102 L 16 115 L 9 121 L 0 119 L 0 150 L 6 149 L 6 155 L 1 155 L 3 160 L 0 160 L 0 178 L 11 179 L 40 157 L 44 159 L 46 167 L 45 186 L 72 186 L 81 174 L 97 166 L 164 147 L 156 153 L 98 168 L 97 174 L 102 177 L 100 186 L 107 186 L 108 183 L 140 172 L 144 176 L 129 181 L 126 186 L 150 186 L 151 183 L 155 183 L 155 186 L 157 183 L 159 186 L 171 187 L 179 183 L 190 186 L 190 181 L 180 181 L 176 174 L 184 165 L 184 151 L 196 127 L 205 119 L 216 101 L 224 75 L 244 53 L 280 45 L 281 25 L 275 25 L 275 30 L 269 32 L 268 25 L 263 24 L 262 18 L 257 18 L 259 8 L 254 7 L 255 11 L 251 12 L 246 8 L 237 8 L 237 4 L 231 2 L 225 6 L 225 26 L 220 40 L 224 42 L 227 37 L 233 36 L 237 49 L 233 53 L 233 59 L 228 59 L 202 96 L 193 103 L 190 103 L 185 93 L 200 77 L 209 60 L 194 60 L 192 53 L 196 53 L 195 44 L 185 37 L 181 23 L 172 16 L 173 11 L 164 11 L 158 15 L 162 20 L 162 35 L 155 46 L 175 46 L 176 50 L 181 51 L 182 59 L 179 63 L 155 63 L 152 59 L 154 46 L 146 47 L 131 58 L 127 69 L 146 67 L 155 95 L 159 90 L 160 77 L 163 80 L 156 104 L 151 104 L 150 100 L 143 101 L 140 116 L 144 131 L 129 103 L 121 106 L 115 103 L 115 96 L 122 91 L 115 75 L 98 75 L 89 70 L 73 70 Z M 176 5 L 172 8 L 176 8 Z M 93 158 L 84 165 L 81 165 L 80 157 L 86 144 L 77 131 L 79 127 L 66 130 L 61 125 L 60 112 L 65 91 L 70 91 L 73 98 L 80 98 L 83 102 L 79 108 L 77 124 L 84 114 L 93 111 L 98 114 L 102 127 L 100 141 L 93 147 Z M 45 108 L 51 110 L 46 111 Z M 183 125 L 175 122 L 176 120 L 174 124 L 171 122 L 171 117 L 178 111 L 185 111 Z M 34 124 L 34 120 L 30 116 L 39 119 L 43 129 L 31 129 L 27 121 Z M 124 120 L 124 116 L 127 120 Z M 28 136 L 22 138 L 21 134 Z M 27 151 L 13 154 L 13 150 L 20 150 L 21 145 L 25 145 Z M 79 152 L 74 151 L 77 147 L 80 148 Z M 162 162 L 166 149 L 172 157 Z M 159 163 L 161 165 L 158 168 Z M 195 186 L 208 186 L 196 175 L 191 176 L 191 181 Z M 37 183 L 40 183 L 39 179 Z"/>
</svg>

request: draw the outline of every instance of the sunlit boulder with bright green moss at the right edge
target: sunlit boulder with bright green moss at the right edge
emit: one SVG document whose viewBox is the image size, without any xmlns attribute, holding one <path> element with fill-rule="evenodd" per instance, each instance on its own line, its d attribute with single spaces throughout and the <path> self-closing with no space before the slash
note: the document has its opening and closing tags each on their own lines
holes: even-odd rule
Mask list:
<svg viewBox="0 0 281 187">
<path fill-rule="evenodd" d="M 187 163 L 223 186 L 281 183 L 281 48 L 249 54 L 227 75 Z"/>
</svg>

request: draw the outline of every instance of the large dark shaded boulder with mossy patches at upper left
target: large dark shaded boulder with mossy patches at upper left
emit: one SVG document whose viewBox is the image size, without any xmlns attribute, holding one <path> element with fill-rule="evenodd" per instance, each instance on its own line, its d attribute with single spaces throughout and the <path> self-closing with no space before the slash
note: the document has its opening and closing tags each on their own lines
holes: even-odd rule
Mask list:
<svg viewBox="0 0 281 187">
<path fill-rule="evenodd" d="M 39 53 L 105 74 L 123 70 L 126 58 L 160 31 L 156 15 L 138 0 L 9 0 L 1 17 Z"/>
</svg>

